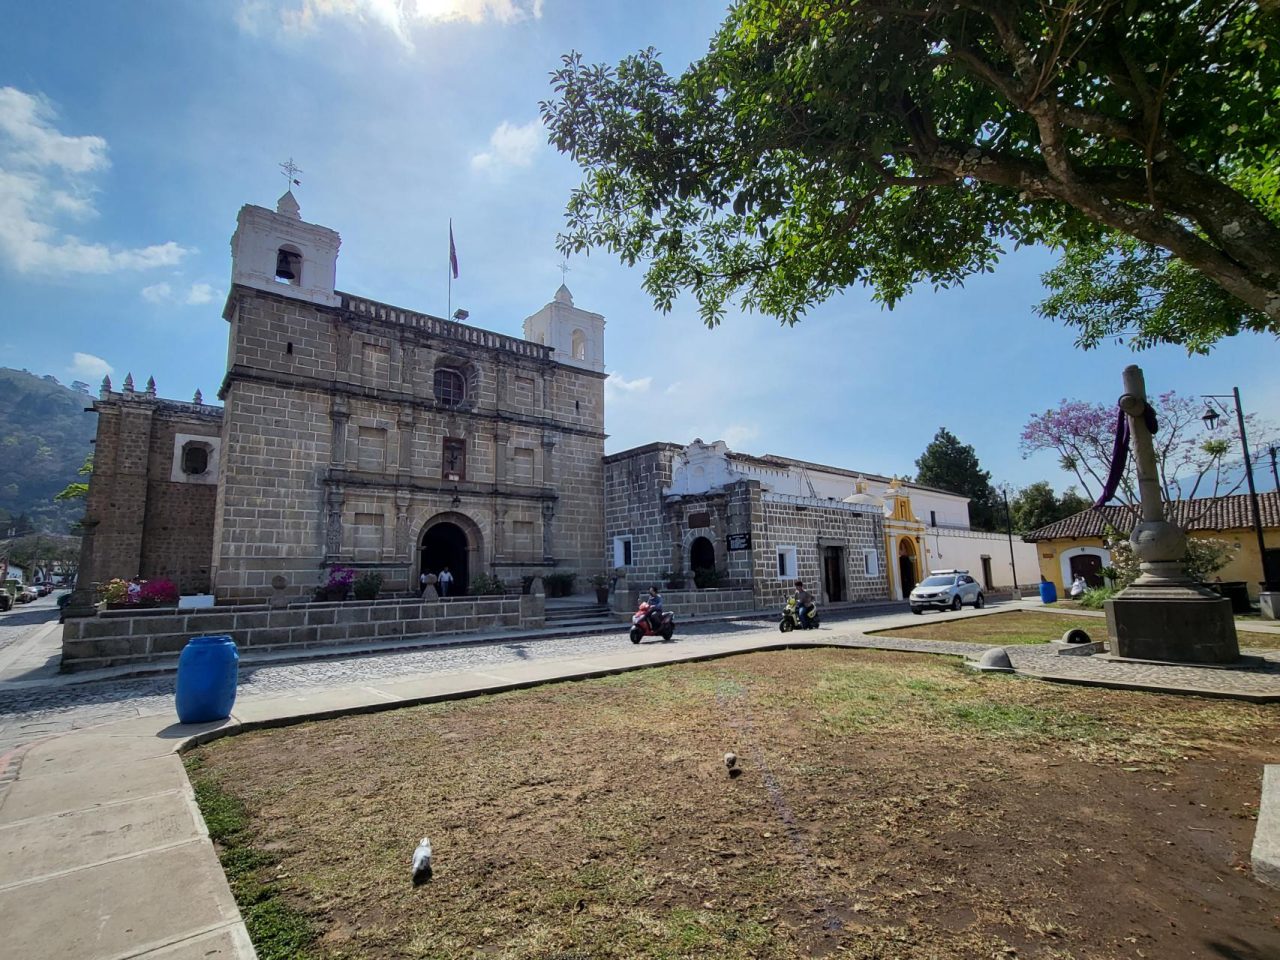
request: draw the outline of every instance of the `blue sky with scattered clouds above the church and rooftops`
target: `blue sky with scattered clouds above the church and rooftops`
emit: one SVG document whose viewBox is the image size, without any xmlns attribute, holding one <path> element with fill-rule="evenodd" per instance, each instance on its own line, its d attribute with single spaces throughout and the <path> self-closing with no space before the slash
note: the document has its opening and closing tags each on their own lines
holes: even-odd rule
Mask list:
<svg viewBox="0 0 1280 960">
<path fill-rule="evenodd" d="M 644 46 L 676 70 L 705 51 L 705 0 L 207 0 L 5 4 L 0 35 L 0 365 L 82 379 L 156 378 L 212 398 L 242 204 L 274 206 L 302 168 L 302 216 L 342 234 L 338 287 L 443 315 L 447 223 L 470 323 L 518 334 L 561 282 L 554 237 L 577 183 L 538 101 L 561 54 L 616 63 Z M 641 270 L 570 261 L 604 314 L 608 451 L 724 439 L 868 472 L 910 474 L 940 426 L 996 481 L 1066 475 L 1023 460 L 1033 412 L 1110 402 L 1138 362 L 1149 389 L 1229 393 L 1275 421 L 1276 339 L 1210 357 L 1084 353 L 1034 314 L 1044 251 L 893 311 L 849 291 L 796 328 L 695 305 L 653 310 Z M 1270 484 L 1265 485 L 1270 489 Z"/>
</svg>

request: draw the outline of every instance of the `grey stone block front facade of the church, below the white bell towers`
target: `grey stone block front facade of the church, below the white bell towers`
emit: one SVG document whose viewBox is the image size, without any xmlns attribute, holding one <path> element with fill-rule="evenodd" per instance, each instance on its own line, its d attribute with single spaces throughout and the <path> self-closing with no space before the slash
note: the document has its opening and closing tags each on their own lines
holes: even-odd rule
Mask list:
<svg viewBox="0 0 1280 960">
<path fill-rule="evenodd" d="M 470 573 L 604 570 L 604 375 L 502 334 L 349 294 L 236 288 L 215 591 L 303 595 L 342 563 L 417 582 L 422 531 L 468 536 Z M 435 397 L 457 371 L 458 403 Z M 462 462 L 445 465 L 445 440 Z M 268 489 L 264 489 L 268 488 Z"/>
</svg>

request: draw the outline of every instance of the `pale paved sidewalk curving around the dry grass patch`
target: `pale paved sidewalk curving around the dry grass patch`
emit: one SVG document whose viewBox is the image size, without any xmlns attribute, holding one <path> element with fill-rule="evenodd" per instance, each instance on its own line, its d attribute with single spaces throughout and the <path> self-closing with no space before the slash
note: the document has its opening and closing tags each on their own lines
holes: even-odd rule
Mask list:
<svg viewBox="0 0 1280 960">
<path fill-rule="evenodd" d="M 993 612 L 998 608 L 950 616 Z M 876 620 L 892 625 L 914 618 Z M 189 742 L 307 718 L 394 709 L 750 650 L 844 645 L 977 657 L 989 649 L 983 644 L 874 637 L 861 632 L 863 626 L 872 622 L 837 623 L 814 634 L 787 636 L 776 628 L 753 626 L 699 637 L 696 643 L 611 644 L 573 657 L 489 662 L 452 673 L 367 678 L 284 695 L 242 696 L 233 717 L 220 724 L 173 723 L 170 707 L 164 714 L 49 737 L 19 750 L 15 780 L 0 785 L 4 952 L 65 960 L 255 956 L 177 754 Z M 1190 671 L 1198 684 L 1219 685 L 1236 681 L 1213 677 L 1235 673 L 1236 678 L 1251 677 L 1249 682 L 1263 694 L 1280 700 L 1280 653 L 1270 654 L 1270 666 L 1261 672 L 1143 667 L 1147 672 L 1142 677 L 1126 678 L 1115 668 L 1139 664 L 1103 667 L 1097 658 L 1051 657 L 1044 648 L 1009 649 L 1015 664 L 1028 672 L 1044 669 L 1055 680 L 1146 682 L 1155 686 L 1143 689 L 1175 689 L 1179 676 L 1169 671 Z M 1080 662 L 1093 662 L 1089 668 L 1111 673 L 1101 678 L 1084 676 L 1079 673 Z M 1217 692 L 1228 691 L 1224 686 Z M 13 758 L 0 756 L 0 769 L 6 759 Z"/>
</svg>

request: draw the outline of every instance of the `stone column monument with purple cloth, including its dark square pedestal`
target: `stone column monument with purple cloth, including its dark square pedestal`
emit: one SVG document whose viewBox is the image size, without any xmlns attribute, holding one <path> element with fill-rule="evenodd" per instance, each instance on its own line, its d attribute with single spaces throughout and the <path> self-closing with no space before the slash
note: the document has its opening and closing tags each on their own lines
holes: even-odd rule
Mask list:
<svg viewBox="0 0 1280 960">
<path fill-rule="evenodd" d="M 1142 369 L 1124 370 L 1120 410 L 1129 421 L 1142 520 L 1129 543 L 1142 573 L 1106 602 L 1111 652 L 1116 657 L 1172 663 L 1234 663 L 1240 658 L 1231 602 L 1187 576 L 1187 535 L 1165 520 L 1156 451 L 1147 428 Z"/>
</svg>

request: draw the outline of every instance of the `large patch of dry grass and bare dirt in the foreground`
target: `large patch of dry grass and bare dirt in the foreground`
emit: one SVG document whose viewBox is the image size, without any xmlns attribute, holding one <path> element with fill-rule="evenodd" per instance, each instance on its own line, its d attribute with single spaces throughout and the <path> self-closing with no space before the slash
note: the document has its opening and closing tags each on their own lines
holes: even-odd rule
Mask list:
<svg viewBox="0 0 1280 960">
<path fill-rule="evenodd" d="M 822 649 L 250 733 L 193 778 L 243 804 L 315 957 L 1262 960 L 1277 736 L 1272 708 Z"/>
</svg>

